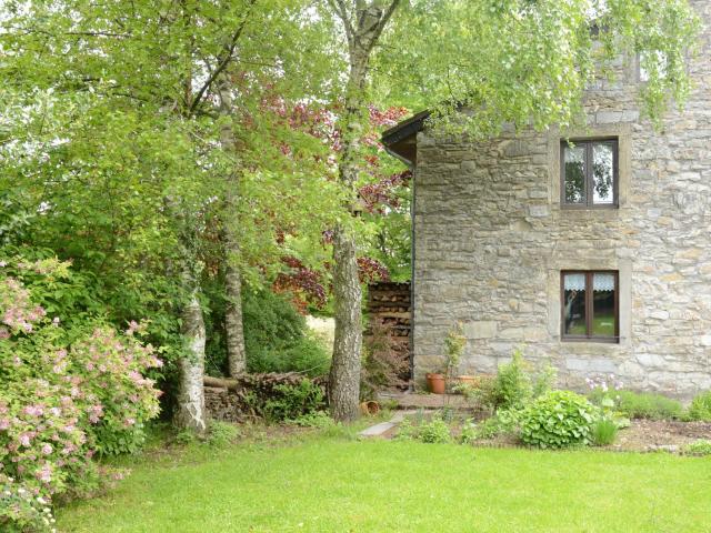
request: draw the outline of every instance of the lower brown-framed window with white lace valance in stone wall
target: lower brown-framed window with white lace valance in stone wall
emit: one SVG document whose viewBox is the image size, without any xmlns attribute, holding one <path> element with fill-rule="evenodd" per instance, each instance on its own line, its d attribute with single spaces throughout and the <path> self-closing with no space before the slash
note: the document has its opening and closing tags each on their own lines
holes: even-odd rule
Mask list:
<svg viewBox="0 0 711 533">
<path fill-rule="evenodd" d="M 562 339 L 618 342 L 618 293 L 617 270 L 561 272 Z"/>
</svg>

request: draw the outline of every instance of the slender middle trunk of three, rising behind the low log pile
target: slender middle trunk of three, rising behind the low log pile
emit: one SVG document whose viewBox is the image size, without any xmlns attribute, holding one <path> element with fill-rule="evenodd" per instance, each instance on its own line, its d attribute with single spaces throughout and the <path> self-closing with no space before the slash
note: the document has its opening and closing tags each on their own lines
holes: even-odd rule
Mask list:
<svg viewBox="0 0 711 533">
<path fill-rule="evenodd" d="M 224 184 L 224 232 L 223 245 L 227 268 L 224 273 L 224 292 L 227 308 L 224 310 L 224 329 L 227 333 L 227 359 L 230 376 L 234 378 L 247 368 L 244 350 L 244 330 L 242 326 L 242 278 L 239 270 L 239 239 L 234 219 L 239 200 L 239 161 L 237 158 L 237 142 L 232 131 L 232 94 L 229 80 L 221 77 L 218 83 L 220 94 L 220 115 L 224 119 L 220 130 L 220 144 L 229 158 L 233 159 L 233 167 L 227 174 Z"/>
</svg>

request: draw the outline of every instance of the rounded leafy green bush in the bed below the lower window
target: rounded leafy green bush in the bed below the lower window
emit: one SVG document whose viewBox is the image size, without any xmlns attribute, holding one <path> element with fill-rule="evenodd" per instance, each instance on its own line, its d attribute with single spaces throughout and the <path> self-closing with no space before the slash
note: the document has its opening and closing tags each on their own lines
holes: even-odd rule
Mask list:
<svg viewBox="0 0 711 533">
<path fill-rule="evenodd" d="M 521 413 L 521 440 L 539 447 L 588 444 L 598 415 L 598 409 L 574 392 L 549 392 Z"/>
</svg>

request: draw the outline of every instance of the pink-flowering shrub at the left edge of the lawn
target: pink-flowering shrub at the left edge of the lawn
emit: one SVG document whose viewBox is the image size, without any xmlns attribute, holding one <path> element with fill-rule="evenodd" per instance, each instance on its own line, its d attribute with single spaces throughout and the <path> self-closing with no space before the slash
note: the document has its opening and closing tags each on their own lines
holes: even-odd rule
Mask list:
<svg viewBox="0 0 711 533">
<path fill-rule="evenodd" d="M 137 323 L 119 333 L 88 315 L 64 328 L 34 303 L 71 275 L 67 263 L 13 260 L 17 276 L 8 266 L 0 262 L 0 473 L 49 501 L 91 487 L 94 454 L 130 452 L 142 442 L 142 423 L 159 409 L 159 391 L 143 373 L 161 362 L 137 338 Z M 19 279 L 27 271 L 36 276 L 31 286 Z M 0 516 L 20 524 L 18 513 L 32 513 L 16 500 L 1 500 Z"/>
</svg>

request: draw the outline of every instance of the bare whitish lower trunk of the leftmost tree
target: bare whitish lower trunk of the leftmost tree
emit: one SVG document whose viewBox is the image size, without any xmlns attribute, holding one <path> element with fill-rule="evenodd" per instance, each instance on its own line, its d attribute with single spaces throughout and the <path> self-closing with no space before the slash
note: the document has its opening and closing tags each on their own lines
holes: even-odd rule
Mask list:
<svg viewBox="0 0 711 533">
<path fill-rule="evenodd" d="M 180 383 L 176 425 L 183 430 L 204 433 L 207 429 L 204 413 L 204 321 L 198 300 L 198 288 L 193 283 L 190 301 L 182 311 L 182 334 L 188 353 L 178 361 Z"/>
</svg>

